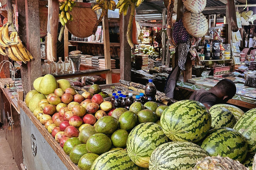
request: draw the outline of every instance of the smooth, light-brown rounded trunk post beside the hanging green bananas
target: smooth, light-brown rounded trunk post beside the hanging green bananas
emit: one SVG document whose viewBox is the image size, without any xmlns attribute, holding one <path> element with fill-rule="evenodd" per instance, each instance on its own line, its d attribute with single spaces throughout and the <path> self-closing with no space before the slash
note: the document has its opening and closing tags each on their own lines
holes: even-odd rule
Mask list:
<svg viewBox="0 0 256 170">
<path fill-rule="evenodd" d="M 59 1 L 48 1 L 48 23 L 47 23 L 47 59 L 57 60 L 57 35 L 59 24 Z"/>
</svg>

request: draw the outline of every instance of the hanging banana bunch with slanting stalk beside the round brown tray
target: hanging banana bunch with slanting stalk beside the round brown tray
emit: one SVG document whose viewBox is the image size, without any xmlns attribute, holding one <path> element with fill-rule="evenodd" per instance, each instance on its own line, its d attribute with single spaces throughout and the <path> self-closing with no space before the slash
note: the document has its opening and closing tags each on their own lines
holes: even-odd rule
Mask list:
<svg viewBox="0 0 256 170">
<path fill-rule="evenodd" d="M 101 22 L 101 20 L 103 19 L 104 16 L 108 15 L 108 10 L 115 10 L 115 6 L 116 6 L 116 2 L 113 0 L 96 0 L 96 3 L 93 7 L 92 10 L 93 11 L 97 11 L 99 9 L 102 9 L 100 18 L 98 19 L 97 23 L 95 24 L 94 28 L 93 28 L 93 35 L 95 35 L 98 25 Z"/>
</svg>

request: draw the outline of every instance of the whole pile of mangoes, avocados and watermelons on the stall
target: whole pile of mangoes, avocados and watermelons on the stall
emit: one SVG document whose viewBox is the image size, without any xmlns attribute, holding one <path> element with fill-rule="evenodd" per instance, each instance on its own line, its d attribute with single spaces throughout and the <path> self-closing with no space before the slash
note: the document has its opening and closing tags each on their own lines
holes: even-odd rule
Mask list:
<svg viewBox="0 0 256 170">
<path fill-rule="evenodd" d="M 67 80 L 45 75 L 34 87 L 27 106 L 81 170 L 252 168 L 256 109 L 208 110 L 192 100 L 112 109 L 98 85 L 79 95 Z"/>
</svg>

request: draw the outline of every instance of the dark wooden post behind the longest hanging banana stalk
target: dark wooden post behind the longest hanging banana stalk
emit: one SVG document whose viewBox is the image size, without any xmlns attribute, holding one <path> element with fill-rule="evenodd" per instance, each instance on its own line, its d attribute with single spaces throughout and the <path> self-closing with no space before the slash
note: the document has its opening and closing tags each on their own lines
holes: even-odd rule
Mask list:
<svg viewBox="0 0 256 170">
<path fill-rule="evenodd" d="M 120 15 L 120 78 L 131 81 L 131 47 L 126 38 L 131 9 L 126 16 Z"/>
</svg>

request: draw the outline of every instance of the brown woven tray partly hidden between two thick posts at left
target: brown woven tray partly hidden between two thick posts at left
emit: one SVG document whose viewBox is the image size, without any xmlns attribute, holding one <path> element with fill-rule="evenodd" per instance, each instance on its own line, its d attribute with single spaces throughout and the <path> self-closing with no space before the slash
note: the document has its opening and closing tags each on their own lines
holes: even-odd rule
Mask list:
<svg viewBox="0 0 256 170">
<path fill-rule="evenodd" d="M 40 37 L 47 36 L 48 8 L 39 6 Z"/>
</svg>

